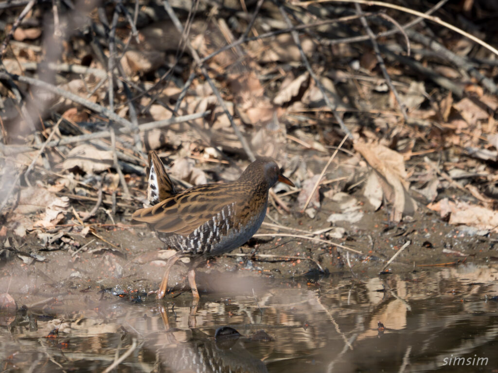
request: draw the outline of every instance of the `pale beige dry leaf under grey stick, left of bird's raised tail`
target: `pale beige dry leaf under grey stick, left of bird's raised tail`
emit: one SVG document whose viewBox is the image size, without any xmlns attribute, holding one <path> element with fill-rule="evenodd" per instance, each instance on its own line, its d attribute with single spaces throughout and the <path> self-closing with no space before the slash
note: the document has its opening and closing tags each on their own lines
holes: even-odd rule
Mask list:
<svg viewBox="0 0 498 373">
<path fill-rule="evenodd" d="M 113 152 L 99 150 L 93 145 L 79 145 L 71 149 L 62 167 L 65 170 L 79 168 L 87 174 L 94 174 L 107 170 L 113 164 Z"/>
</svg>

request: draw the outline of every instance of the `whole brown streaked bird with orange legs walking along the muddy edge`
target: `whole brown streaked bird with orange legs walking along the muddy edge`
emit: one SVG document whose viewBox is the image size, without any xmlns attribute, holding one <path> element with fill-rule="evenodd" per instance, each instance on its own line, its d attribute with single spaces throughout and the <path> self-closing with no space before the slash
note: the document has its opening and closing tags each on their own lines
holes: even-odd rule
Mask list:
<svg viewBox="0 0 498 373">
<path fill-rule="evenodd" d="M 157 237 L 177 251 L 166 263 L 157 299 L 164 297 L 173 264 L 182 257 L 207 258 L 227 253 L 258 230 L 266 214 L 268 189 L 277 181 L 294 186 L 270 158 L 252 162 L 232 183 L 207 184 L 176 192 L 155 152 L 149 154 L 148 200 L 133 220 L 149 224 Z M 192 295 L 199 297 L 195 264 L 188 272 Z"/>
</svg>

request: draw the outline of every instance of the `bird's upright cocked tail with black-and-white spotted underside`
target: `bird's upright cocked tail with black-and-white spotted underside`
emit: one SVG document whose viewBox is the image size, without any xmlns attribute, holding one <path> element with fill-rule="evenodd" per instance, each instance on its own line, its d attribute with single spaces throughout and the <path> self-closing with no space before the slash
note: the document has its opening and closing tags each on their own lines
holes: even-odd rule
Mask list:
<svg viewBox="0 0 498 373">
<path fill-rule="evenodd" d="M 147 199 L 151 205 L 176 194 L 175 187 L 166 173 L 163 163 L 154 151 L 149 153 L 148 175 Z"/>
</svg>

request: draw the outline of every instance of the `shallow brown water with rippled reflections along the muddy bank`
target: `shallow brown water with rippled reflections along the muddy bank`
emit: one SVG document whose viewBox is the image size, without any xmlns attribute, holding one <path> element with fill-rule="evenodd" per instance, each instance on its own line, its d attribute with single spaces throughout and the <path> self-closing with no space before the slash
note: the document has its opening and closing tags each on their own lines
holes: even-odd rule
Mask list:
<svg viewBox="0 0 498 373">
<path fill-rule="evenodd" d="M 496 372 L 497 275 L 247 280 L 198 304 L 78 291 L 0 315 L 0 368 L 101 372 L 128 353 L 117 372 Z"/>
</svg>

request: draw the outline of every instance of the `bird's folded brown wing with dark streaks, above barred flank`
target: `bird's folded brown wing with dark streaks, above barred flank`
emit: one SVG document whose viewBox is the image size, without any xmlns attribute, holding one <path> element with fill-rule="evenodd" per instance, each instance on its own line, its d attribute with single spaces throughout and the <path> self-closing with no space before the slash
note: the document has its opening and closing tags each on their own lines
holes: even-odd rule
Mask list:
<svg viewBox="0 0 498 373">
<path fill-rule="evenodd" d="M 157 232 L 188 236 L 222 211 L 219 219 L 232 220 L 239 199 L 240 194 L 233 193 L 229 185 L 204 185 L 136 210 L 131 217 L 151 225 Z"/>
</svg>

